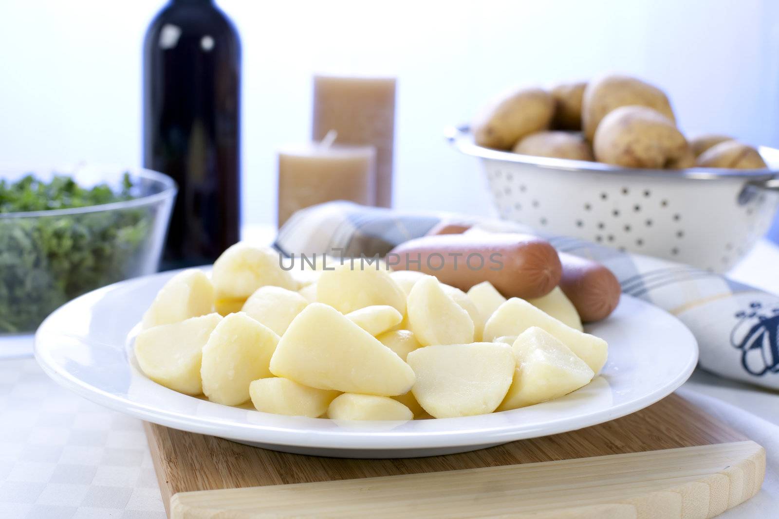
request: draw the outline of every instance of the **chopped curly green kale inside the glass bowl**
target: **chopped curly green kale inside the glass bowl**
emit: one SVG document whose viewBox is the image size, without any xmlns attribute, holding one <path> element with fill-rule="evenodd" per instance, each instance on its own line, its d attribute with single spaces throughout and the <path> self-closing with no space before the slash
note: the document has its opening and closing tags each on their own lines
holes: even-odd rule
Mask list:
<svg viewBox="0 0 779 519">
<path fill-rule="evenodd" d="M 100 286 L 141 273 L 151 209 L 65 216 L 7 213 L 72 209 L 132 199 L 132 181 L 83 188 L 72 177 L 0 180 L 0 333 L 33 331 L 52 310 Z"/>
</svg>

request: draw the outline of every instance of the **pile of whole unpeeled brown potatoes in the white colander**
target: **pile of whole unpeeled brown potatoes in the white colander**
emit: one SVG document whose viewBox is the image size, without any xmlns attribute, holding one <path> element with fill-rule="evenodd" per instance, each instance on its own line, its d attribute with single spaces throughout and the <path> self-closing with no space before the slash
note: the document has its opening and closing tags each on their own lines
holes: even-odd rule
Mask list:
<svg viewBox="0 0 779 519">
<path fill-rule="evenodd" d="M 472 124 L 479 146 L 622 167 L 762 169 L 760 153 L 726 135 L 686 139 L 668 96 L 627 75 L 500 96 Z"/>
</svg>

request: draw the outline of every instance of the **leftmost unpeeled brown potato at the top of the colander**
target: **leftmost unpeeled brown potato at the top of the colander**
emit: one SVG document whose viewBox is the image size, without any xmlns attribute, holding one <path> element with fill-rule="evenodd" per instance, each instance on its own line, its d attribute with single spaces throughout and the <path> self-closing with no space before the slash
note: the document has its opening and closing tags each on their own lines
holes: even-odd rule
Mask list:
<svg viewBox="0 0 779 519">
<path fill-rule="evenodd" d="M 481 110 L 472 124 L 479 146 L 511 149 L 525 135 L 549 127 L 555 101 L 544 89 L 523 88 L 509 92 Z"/>
</svg>

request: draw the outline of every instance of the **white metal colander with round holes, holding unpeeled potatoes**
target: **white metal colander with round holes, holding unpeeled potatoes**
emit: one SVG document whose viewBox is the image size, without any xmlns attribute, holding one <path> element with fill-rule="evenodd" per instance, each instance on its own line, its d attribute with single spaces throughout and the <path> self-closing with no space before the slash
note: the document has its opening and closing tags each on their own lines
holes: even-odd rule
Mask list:
<svg viewBox="0 0 779 519">
<path fill-rule="evenodd" d="M 713 272 L 763 237 L 779 205 L 773 168 L 631 170 L 483 148 L 467 128 L 447 138 L 479 157 L 502 219 Z M 760 153 L 779 164 L 779 150 Z"/>
</svg>

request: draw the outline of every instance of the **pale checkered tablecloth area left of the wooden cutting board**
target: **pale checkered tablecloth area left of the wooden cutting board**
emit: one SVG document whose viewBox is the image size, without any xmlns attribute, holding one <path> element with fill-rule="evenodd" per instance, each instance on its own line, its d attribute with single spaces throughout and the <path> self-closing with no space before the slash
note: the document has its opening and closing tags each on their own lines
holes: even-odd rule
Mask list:
<svg viewBox="0 0 779 519">
<path fill-rule="evenodd" d="M 0 359 L 0 517 L 164 518 L 140 420 Z"/>
</svg>

